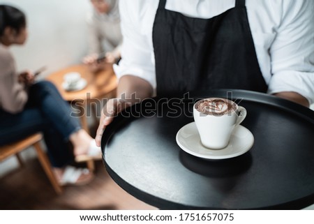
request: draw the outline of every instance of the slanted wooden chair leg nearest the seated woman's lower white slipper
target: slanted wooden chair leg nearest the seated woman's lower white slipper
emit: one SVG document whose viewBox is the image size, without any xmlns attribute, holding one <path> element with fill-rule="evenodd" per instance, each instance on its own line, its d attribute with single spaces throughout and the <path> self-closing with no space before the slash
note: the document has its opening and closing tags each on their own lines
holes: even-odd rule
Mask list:
<svg viewBox="0 0 314 224">
<path fill-rule="evenodd" d="M 57 178 L 54 176 L 54 173 L 52 172 L 50 161 L 48 160 L 46 154 L 41 149 L 39 142 L 36 142 L 35 144 L 33 144 L 33 147 L 35 147 L 35 149 L 37 151 L 38 159 L 39 159 L 41 165 L 43 166 L 45 173 L 47 174 L 48 178 L 50 179 L 50 182 L 54 188 L 54 191 L 56 191 L 58 194 L 62 193 L 62 188 L 59 185 Z"/>
</svg>

